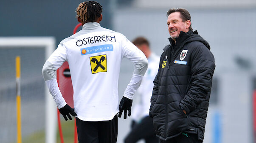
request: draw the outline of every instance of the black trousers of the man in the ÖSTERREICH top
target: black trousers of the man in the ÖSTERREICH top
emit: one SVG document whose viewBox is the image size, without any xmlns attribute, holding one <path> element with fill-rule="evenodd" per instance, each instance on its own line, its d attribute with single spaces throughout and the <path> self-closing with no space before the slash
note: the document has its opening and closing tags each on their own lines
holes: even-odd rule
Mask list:
<svg viewBox="0 0 256 143">
<path fill-rule="evenodd" d="M 82 121 L 76 118 L 79 143 L 116 143 L 117 115 L 110 121 Z"/>
</svg>

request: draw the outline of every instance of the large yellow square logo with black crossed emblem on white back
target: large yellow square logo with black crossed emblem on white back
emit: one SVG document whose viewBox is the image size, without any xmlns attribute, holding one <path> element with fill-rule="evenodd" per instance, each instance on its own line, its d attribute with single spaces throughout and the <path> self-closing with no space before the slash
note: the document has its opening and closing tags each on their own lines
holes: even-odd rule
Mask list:
<svg viewBox="0 0 256 143">
<path fill-rule="evenodd" d="M 92 74 L 107 72 L 107 55 L 90 57 Z"/>
</svg>

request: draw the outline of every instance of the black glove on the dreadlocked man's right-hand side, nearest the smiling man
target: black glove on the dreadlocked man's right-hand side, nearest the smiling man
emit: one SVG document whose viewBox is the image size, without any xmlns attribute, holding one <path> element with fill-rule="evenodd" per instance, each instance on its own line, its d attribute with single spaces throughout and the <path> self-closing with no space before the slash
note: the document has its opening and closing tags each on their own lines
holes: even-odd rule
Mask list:
<svg viewBox="0 0 256 143">
<path fill-rule="evenodd" d="M 119 104 L 118 117 L 121 118 L 122 113 L 124 111 L 124 119 L 126 119 L 127 110 L 128 110 L 128 116 L 131 116 L 131 109 L 132 109 L 132 100 L 128 99 L 127 97 L 123 97 Z"/>
</svg>

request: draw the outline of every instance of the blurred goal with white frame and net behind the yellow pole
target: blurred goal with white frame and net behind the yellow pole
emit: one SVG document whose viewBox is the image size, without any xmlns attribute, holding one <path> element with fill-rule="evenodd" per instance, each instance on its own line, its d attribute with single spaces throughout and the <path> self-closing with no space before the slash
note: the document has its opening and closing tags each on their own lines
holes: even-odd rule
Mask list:
<svg viewBox="0 0 256 143">
<path fill-rule="evenodd" d="M 42 67 L 55 49 L 55 39 L 0 38 L 0 143 L 17 140 L 15 58 L 20 56 L 22 138 L 56 141 L 56 105 L 45 86 Z M 38 142 L 38 141 L 35 141 Z"/>
</svg>

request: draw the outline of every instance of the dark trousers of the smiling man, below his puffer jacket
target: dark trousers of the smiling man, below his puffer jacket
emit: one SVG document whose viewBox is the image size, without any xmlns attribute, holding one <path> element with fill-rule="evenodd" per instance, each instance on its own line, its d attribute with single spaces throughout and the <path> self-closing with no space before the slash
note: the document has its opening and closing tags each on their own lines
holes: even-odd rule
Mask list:
<svg viewBox="0 0 256 143">
<path fill-rule="evenodd" d="M 177 137 L 171 138 L 166 141 L 159 139 L 159 143 L 201 143 L 201 141 L 197 139 L 197 134 L 189 134 L 183 132 Z"/>
</svg>

